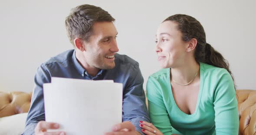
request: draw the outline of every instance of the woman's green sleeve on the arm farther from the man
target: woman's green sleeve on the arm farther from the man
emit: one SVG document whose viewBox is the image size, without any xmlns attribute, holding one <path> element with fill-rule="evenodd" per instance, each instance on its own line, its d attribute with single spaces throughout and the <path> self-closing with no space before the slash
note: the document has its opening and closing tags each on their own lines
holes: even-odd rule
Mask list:
<svg viewBox="0 0 256 135">
<path fill-rule="evenodd" d="M 233 80 L 224 69 L 219 78 L 213 96 L 216 135 L 238 135 L 239 115 Z"/>
</svg>

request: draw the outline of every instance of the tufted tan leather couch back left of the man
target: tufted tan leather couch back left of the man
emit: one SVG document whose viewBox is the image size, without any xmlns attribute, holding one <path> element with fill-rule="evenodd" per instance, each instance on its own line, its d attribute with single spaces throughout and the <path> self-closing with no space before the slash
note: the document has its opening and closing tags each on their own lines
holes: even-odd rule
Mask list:
<svg viewBox="0 0 256 135">
<path fill-rule="evenodd" d="M 32 92 L 0 92 L 0 117 L 28 112 L 31 95 Z"/>
</svg>

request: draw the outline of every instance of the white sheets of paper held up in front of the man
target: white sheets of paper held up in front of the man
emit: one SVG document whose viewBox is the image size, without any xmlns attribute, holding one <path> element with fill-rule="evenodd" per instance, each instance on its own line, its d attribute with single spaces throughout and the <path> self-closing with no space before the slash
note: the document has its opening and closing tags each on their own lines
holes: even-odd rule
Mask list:
<svg viewBox="0 0 256 135">
<path fill-rule="evenodd" d="M 122 121 L 122 84 L 53 78 L 43 92 L 46 121 L 67 135 L 103 135 Z"/>
</svg>

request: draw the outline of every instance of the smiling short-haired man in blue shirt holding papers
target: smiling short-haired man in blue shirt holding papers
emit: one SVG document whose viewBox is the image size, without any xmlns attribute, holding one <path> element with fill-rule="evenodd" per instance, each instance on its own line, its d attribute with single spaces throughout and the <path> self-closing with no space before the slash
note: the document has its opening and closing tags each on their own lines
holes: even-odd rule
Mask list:
<svg viewBox="0 0 256 135">
<path fill-rule="evenodd" d="M 71 10 L 66 17 L 66 29 L 75 49 L 50 58 L 37 69 L 24 135 L 66 134 L 47 132 L 47 129 L 58 129 L 59 124 L 44 121 L 43 84 L 50 83 L 51 77 L 114 80 L 122 83 L 123 122 L 113 125 L 113 132 L 106 135 L 143 134 L 139 122 L 149 122 L 142 87 L 144 80 L 138 62 L 116 53 L 118 32 L 114 21 L 108 12 L 97 6 L 81 5 Z"/>
</svg>

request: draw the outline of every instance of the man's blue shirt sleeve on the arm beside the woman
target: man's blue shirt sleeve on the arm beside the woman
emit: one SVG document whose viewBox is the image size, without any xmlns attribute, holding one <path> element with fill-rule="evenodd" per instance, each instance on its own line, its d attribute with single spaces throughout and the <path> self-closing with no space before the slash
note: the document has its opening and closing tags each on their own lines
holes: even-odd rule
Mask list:
<svg viewBox="0 0 256 135">
<path fill-rule="evenodd" d="M 148 110 L 145 103 L 145 93 L 143 90 L 143 77 L 139 69 L 138 63 L 131 69 L 127 80 L 127 86 L 123 93 L 123 121 L 130 121 L 135 125 L 136 131 L 141 135 L 140 121 L 150 122 Z"/>
</svg>

